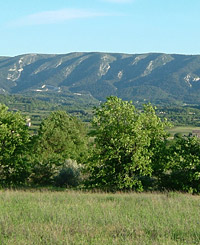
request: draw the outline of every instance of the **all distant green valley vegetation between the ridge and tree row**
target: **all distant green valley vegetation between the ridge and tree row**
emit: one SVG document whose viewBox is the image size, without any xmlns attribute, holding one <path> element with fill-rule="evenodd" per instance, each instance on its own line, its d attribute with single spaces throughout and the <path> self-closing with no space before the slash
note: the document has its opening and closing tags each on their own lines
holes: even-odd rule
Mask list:
<svg viewBox="0 0 200 245">
<path fill-rule="evenodd" d="M 93 108 L 100 104 L 99 101 L 88 100 L 84 96 L 66 96 L 59 93 L 41 93 L 27 95 L 2 95 L 0 103 L 5 104 L 11 111 L 20 111 L 31 119 L 29 130 L 36 133 L 42 120 L 52 111 L 62 110 L 70 115 L 78 117 L 81 121 L 89 123 L 93 117 Z M 134 103 L 141 110 L 143 103 Z M 167 118 L 176 126 L 200 126 L 200 107 L 198 105 L 170 105 L 156 104 L 156 114 L 161 118 Z"/>
</svg>

